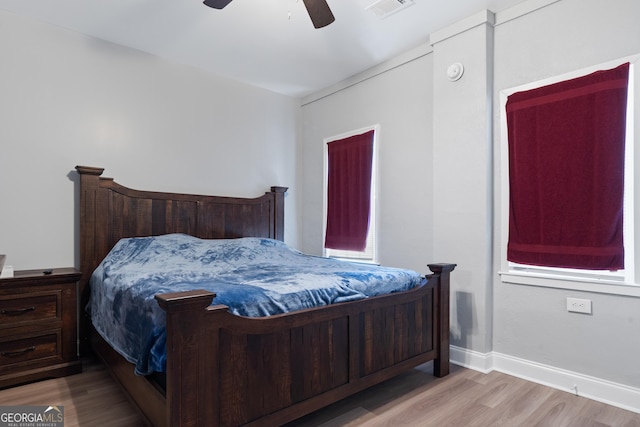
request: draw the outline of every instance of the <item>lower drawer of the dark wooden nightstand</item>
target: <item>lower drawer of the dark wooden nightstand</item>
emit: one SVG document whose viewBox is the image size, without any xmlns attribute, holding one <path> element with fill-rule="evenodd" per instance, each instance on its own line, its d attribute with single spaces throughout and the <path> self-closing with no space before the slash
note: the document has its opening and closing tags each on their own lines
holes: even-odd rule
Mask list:
<svg viewBox="0 0 640 427">
<path fill-rule="evenodd" d="M 7 365 L 51 357 L 61 357 L 60 334 L 56 331 L 0 342 L 0 370 Z"/>
</svg>

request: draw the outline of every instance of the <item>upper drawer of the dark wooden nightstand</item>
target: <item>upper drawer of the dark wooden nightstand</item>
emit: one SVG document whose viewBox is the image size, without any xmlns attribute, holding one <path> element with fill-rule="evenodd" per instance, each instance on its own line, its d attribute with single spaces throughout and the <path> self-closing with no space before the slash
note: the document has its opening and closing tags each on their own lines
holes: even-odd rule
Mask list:
<svg viewBox="0 0 640 427">
<path fill-rule="evenodd" d="M 42 295 L 15 295 L 0 299 L 0 328 L 59 318 L 60 292 Z"/>
</svg>

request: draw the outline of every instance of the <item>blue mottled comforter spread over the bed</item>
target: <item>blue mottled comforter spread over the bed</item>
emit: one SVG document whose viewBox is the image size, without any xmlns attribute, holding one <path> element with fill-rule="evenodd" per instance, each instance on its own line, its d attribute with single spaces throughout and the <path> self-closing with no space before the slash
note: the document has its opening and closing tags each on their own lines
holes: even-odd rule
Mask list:
<svg viewBox="0 0 640 427">
<path fill-rule="evenodd" d="M 184 234 L 120 240 L 91 276 L 93 325 L 136 373 L 165 367 L 165 314 L 154 295 L 217 294 L 240 316 L 269 316 L 404 291 L 420 274 L 303 254 L 266 238 L 203 240 Z"/>
</svg>

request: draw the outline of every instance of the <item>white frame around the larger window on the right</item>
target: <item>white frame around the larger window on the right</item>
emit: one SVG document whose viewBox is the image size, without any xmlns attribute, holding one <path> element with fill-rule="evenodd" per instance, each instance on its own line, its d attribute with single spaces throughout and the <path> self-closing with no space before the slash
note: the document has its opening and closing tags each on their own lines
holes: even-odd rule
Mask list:
<svg viewBox="0 0 640 427">
<path fill-rule="evenodd" d="M 503 283 L 543 286 L 550 288 L 571 289 L 587 292 L 627 295 L 640 297 L 640 285 L 635 280 L 635 222 L 638 215 L 634 209 L 634 145 L 640 137 L 634 132 L 640 131 L 635 124 L 636 115 L 640 112 L 640 94 L 635 86 L 640 81 L 640 54 L 609 61 L 556 77 L 547 78 L 530 84 L 500 91 L 500 155 L 502 171 L 501 187 L 501 265 L 500 278 Z M 584 76 L 598 70 L 611 69 L 629 62 L 629 88 L 627 102 L 627 132 L 625 143 L 625 182 L 624 182 L 624 248 L 625 269 L 620 271 L 591 271 L 567 268 L 538 267 L 516 264 L 507 261 L 507 243 L 509 239 L 509 156 L 506 103 L 509 95 L 515 92 L 535 89 L 541 86 L 558 83 L 564 80 Z M 636 85 L 634 85 L 636 83 Z"/>
</svg>

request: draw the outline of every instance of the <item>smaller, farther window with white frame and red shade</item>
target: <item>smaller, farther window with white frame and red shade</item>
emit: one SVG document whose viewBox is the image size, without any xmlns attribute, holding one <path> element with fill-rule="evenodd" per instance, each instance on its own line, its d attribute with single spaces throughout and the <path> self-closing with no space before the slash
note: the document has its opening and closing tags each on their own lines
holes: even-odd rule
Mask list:
<svg viewBox="0 0 640 427">
<path fill-rule="evenodd" d="M 324 140 L 324 255 L 376 262 L 377 127 Z"/>
</svg>

